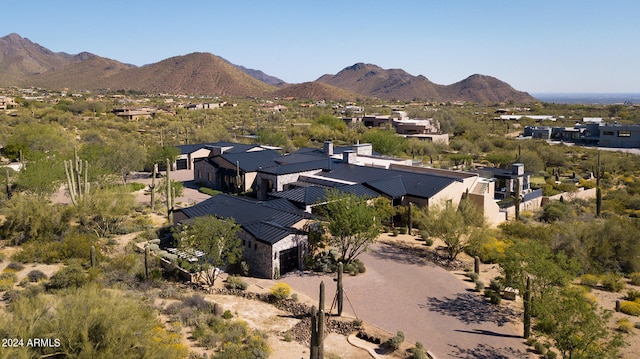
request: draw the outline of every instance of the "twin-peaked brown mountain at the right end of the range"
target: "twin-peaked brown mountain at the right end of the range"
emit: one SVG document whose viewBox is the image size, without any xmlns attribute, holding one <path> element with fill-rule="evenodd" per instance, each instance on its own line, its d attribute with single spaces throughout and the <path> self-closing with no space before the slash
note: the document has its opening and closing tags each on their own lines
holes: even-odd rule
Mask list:
<svg viewBox="0 0 640 359">
<path fill-rule="evenodd" d="M 494 77 L 472 75 L 452 85 L 438 85 L 424 76 L 413 76 L 399 69 L 385 70 L 376 65 L 357 63 L 336 75 L 324 75 L 318 82 L 386 100 L 532 102 L 525 92 L 514 90 Z"/>
</svg>

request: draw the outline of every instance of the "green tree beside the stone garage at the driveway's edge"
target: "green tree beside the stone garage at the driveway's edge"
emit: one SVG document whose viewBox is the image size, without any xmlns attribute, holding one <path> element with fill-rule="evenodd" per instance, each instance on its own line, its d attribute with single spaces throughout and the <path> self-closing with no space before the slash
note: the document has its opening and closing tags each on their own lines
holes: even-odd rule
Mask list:
<svg viewBox="0 0 640 359">
<path fill-rule="evenodd" d="M 329 244 L 340 253 L 339 260 L 350 264 L 367 251 L 382 232 L 380 215 L 366 198 L 331 190 L 320 213 L 330 234 Z"/>
</svg>

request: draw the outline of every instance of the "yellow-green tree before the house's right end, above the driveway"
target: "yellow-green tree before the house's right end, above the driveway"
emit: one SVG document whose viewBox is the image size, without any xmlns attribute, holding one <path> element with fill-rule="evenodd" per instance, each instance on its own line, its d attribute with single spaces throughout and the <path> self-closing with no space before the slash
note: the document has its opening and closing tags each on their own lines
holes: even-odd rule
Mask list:
<svg viewBox="0 0 640 359">
<path fill-rule="evenodd" d="M 482 241 L 486 233 L 484 216 L 468 199 L 462 199 L 457 208 L 447 203 L 416 212 L 420 228 L 446 244 L 450 261 Z"/>
</svg>

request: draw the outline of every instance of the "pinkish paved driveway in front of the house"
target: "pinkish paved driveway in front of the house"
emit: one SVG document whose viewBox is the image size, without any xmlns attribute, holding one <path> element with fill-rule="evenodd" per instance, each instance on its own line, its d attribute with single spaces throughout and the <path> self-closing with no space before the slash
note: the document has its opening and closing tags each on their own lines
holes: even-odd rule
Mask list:
<svg viewBox="0 0 640 359">
<path fill-rule="evenodd" d="M 388 244 L 377 244 L 360 258 L 367 272 L 344 277 L 352 304 L 345 300 L 345 314 L 394 333 L 402 330 L 438 359 L 536 357 L 524 344 L 522 329 L 509 320 L 513 313 L 488 304 L 455 274 Z M 282 278 L 311 298 L 318 297 L 321 280 L 330 306 L 333 277 L 292 273 Z"/>
</svg>

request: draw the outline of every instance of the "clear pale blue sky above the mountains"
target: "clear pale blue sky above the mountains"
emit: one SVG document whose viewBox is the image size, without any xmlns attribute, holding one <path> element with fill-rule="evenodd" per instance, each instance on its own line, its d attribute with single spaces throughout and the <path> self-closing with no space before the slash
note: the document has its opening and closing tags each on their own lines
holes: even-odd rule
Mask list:
<svg viewBox="0 0 640 359">
<path fill-rule="evenodd" d="M 138 66 L 210 52 L 289 83 L 357 62 L 442 85 L 494 76 L 530 93 L 640 92 L 637 0 L 30 0 L 0 37 Z"/>
</svg>

